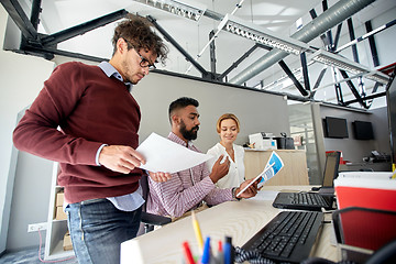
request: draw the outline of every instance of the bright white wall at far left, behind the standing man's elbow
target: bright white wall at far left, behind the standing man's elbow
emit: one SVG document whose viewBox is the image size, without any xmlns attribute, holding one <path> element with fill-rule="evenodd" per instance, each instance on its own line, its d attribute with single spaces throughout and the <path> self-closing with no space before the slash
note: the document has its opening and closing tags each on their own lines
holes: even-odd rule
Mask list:
<svg viewBox="0 0 396 264">
<path fill-rule="evenodd" d="M 45 59 L 4 52 L 2 43 L 7 20 L 8 13 L 0 6 L 0 253 L 6 249 L 13 190 L 12 131 L 18 113 L 33 101 L 54 67 L 52 62 Z M 34 213 L 33 208 L 31 213 Z"/>
</svg>

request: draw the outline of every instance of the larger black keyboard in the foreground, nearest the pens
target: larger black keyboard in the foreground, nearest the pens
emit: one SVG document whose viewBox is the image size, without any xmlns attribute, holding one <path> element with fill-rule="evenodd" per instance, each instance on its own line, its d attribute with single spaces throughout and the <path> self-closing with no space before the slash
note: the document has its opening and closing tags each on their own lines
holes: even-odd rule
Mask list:
<svg viewBox="0 0 396 264">
<path fill-rule="evenodd" d="M 242 249 L 276 262 L 299 263 L 309 257 L 322 221 L 322 212 L 279 212 Z"/>
</svg>

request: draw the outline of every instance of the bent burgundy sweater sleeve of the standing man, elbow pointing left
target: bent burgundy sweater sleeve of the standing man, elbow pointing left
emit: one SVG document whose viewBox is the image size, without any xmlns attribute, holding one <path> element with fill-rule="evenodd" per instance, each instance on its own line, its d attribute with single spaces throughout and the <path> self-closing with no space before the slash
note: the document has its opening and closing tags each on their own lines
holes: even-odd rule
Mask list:
<svg viewBox="0 0 396 264">
<path fill-rule="evenodd" d="M 78 107 L 84 90 L 78 64 L 55 68 L 14 130 L 15 147 L 61 163 L 96 165 L 96 152 L 102 143 L 57 130 Z"/>
</svg>

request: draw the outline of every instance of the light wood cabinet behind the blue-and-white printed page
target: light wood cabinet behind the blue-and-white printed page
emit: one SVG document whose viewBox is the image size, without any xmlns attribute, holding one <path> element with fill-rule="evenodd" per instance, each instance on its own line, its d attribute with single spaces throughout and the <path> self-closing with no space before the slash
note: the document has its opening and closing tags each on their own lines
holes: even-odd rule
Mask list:
<svg viewBox="0 0 396 264">
<path fill-rule="evenodd" d="M 263 172 L 273 151 L 245 150 L 244 165 L 245 178 L 254 178 Z M 265 185 L 309 185 L 307 156 L 300 150 L 276 150 L 284 167 Z"/>
</svg>

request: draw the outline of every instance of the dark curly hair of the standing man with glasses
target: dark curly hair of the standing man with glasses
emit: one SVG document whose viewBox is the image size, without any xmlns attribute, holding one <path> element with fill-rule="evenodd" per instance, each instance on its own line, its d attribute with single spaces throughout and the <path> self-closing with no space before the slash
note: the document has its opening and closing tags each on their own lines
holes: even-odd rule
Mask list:
<svg viewBox="0 0 396 264">
<path fill-rule="evenodd" d="M 117 52 L 117 41 L 124 38 L 128 43 L 128 50 L 148 50 L 157 55 L 157 59 L 165 65 L 167 58 L 168 47 L 163 40 L 152 30 L 152 24 L 140 16 L 128 14 L 127 19 L 121 21 L 112 37 L 113 55 Z"/>
</svg>

